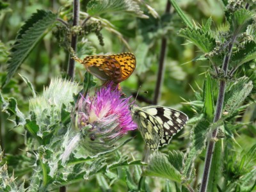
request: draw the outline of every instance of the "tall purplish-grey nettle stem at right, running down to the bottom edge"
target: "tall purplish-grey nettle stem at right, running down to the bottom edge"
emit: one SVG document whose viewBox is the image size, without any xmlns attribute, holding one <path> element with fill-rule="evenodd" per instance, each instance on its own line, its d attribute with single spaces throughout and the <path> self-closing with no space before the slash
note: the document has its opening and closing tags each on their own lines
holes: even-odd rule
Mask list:
<svg viewBox="0 0 256 192">
<path fill-rule="evenodd" d="M 227 76 L 227 74 L 228 74 L 228 63 L 230 61 L 230 56 L 232 54 L 232 47 L 234 45 L 234 42 L 236 41 L 236 37 L 237 37 L 237 33 L 234 33 L 234 35 L 232 36 L 232 40 L 231 40 L 230 44 L 228 45 L 228 52 L 225 55 L 225 58 L 223 60 L 222 70 L 223 70 L 225 76 Z M 217 104 L 216 104 L 216 111 L 215 111 L 213 122 L 217 122 L 221 118 L 221 111 L 223 108 L 223 102 L 224 102 L 224 97 L 225 97 L 225 87 L 226 87 L 226 81 L 225 81 L 225 79 L 224 80 L 221 79 L 218 100 L 217 100 Z M 214 152 L 217 133 L 218 133 L 218 128 L 214 129 L 214 131 L 212 132 L 212 138 L 210 139 L 208 147 L 207 147 L 207 154 L 206 154 L 206 159 L 205 159 L 205 164 L 204 164 L 204 175 L 203 175 L 202 184 L 200 187 L 200 192 L 207 190 L 207 185 L 208 185 L 208 181 L 209 181 L 209 173 L 210 173 L 210 168 L 211 168 L 211 163 L 212 163 L 212 154 Z"/>
</svg>

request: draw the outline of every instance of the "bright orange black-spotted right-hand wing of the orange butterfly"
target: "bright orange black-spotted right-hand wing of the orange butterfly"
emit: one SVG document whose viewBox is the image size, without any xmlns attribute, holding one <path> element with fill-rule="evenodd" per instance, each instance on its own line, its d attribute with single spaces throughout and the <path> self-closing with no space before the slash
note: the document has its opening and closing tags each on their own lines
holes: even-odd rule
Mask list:
<svg viewBox="0 0 256 192">
<path fill-rule="evenodd" d="M 113 54 L 111 57 L 115 58 L 121 67 L 121 76 L 117 79 L 118 83 L 131 76 L 136 67 L 136 58 L 134 54 L 131 52 L 122 52 L 121 54 Z"/>
</svg>

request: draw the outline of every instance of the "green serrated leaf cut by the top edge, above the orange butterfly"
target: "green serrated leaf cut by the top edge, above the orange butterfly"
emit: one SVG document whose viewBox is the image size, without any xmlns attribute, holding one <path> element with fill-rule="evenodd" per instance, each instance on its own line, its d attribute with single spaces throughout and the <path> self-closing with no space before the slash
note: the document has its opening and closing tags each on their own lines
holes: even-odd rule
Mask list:
<svg viewBox="0 0 256 192">
<path fill-rule="evenodd" d="M 148 19 L 140 10 L 139 4 L 134 0 L 92 0 L 87 4 L 89 15 L 101 15 L 102 13 L 129 13 L 136 17 Z"/>
</svg>

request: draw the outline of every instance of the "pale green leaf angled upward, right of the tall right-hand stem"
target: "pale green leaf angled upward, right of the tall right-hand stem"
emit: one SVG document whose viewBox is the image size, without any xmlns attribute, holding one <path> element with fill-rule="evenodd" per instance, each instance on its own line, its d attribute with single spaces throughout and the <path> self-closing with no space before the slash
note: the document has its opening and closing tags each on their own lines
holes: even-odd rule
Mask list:
<svg viewBox="0 0 256 192">
<path fill-rule="evenodd" d="M 239 108 L 239 104 L 252 92 L 252 81 L 248 81 L 248 77 L 241 77 L 230 86 L 229 91 L 225 95 L 224 108 L 225 118 L 232 115 Z"/>
</svg>

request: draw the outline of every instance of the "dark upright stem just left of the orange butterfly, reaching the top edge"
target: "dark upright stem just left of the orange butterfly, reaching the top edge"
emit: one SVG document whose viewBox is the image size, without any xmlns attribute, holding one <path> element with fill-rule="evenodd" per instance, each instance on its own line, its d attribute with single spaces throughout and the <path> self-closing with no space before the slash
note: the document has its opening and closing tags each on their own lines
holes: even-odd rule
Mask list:
<svg viewBox="0 0 256 192">
<path fill-rule="evenodd" d="M 74 13 L 73 26 L 77 26 L 79 22 L 79 0 L 74 0 L 73 13 Z M 77 35 L 72 35 L 71 48 L 73 49 L 74 52 L 76 52 L 76 44 L 77 44 Z M 74 68 L 75 68 L 75 60 L 73 60 L 70 56 L 69 62 L 68 62 L 68 76 L 71 77 L 71 81 L 74 80 Z"/>
</svg>

